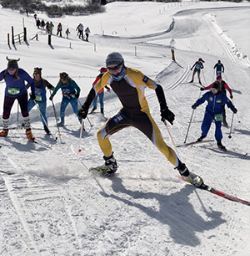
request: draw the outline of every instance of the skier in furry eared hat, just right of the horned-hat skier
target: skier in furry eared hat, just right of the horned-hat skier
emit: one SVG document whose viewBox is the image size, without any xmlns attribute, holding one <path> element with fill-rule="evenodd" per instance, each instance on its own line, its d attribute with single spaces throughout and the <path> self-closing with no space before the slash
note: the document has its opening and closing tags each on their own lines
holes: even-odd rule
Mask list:
<svg viewBox="0 0 250 256">
<path fill-rule="evenodd" d="M 36 90 L 35 90 L 36 99 L 28 100 L 28 112 L 32 110 L 34 105 L 37 104 L 39 106 L 44 131 L 46 131 L 47 135 L 50 135 L 51 133 L 47 127 L 47 117 L 46 117 L 46 106 L 47 106 L 46 88 L 49 90 L 55 90 L 55 87 L 52 84 L 50 84 L 46 79 L 42 79 L 42 68 L 38 68 L 38 67 L 34 68 L 33 80 L 36 84 Z M 30 84 L 27 84 L 26 88 L 28 89 L 29 87 L 30 87 Z"/>
</svg>

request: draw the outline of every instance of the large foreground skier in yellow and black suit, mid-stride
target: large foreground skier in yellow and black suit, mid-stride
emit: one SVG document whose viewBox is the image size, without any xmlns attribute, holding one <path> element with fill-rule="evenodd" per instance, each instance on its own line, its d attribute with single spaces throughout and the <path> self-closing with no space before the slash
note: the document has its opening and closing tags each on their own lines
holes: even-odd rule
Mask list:
<svg viewBox="0 0 250 256">
<path fill-rule="evenodd" d="M 98 172 L 110 175 L 117 171 L 117 161 L 113 156 L 112 146 L 109 136 L 123 128 L 133 126 L 142 131 L 155 146 L 158 147 L 164 156 L 167 157 L 173 166 L 175 166 L 183 178 L 191 184 L 200 187 L 203 185 L 201 177 L 188 171 L 187 166 L 179 160 L 177 154 L 164 141 L 158 125 L 150 115 L 148 102 L 144 95 L 146 87 L 156 91 L 158 101 L 161 107 L 162 120 L 168 120 L 173 125 L 174 114 L 168 110 L 163 88 L 148 78 L 141 71 L 131 69 L 125 66 L 122 55 L 113 52 L 107 55 L 106 67 L 108 72 L 103 74 L 97 84 L 92 87 L 87 100 L 78 111 L 78 114 L 84 119 L 87 117 L 87 111 L 92 100 L 99 90 L 102 90 L 106 84 L 112 87 L 122 103 L 122 109 L 117 115 L 107 120 L 102 128 L 97 131 L 97 140 L 104 154 L 105 164 L 98 167 Z"/>
</svg>

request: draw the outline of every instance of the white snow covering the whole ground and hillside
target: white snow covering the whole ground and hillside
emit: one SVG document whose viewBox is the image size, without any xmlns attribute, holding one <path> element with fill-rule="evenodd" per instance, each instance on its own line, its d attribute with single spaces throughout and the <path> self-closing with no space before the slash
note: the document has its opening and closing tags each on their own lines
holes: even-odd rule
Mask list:
<svg viewBox="0 0 250 256">
<path fill-rule="evenodd" d="M 107 12 L 92 16 L 38 18 L 62 23 L 70 39 L 52 36 L 37 29 L 32 15 L 0 9 L 1 67 L 8 58 L 20 58 L 20 67 L 32 74 L 42 67 L 42 76 L 56 85 L 58 74 L 66 71 L 81 87 L 81 103 L 107 54 L 120 52 L 125 64 L 141 70 L 163 85 L 168 107 L 176 115 L 168 134 L 160 120 L 158 100 L 147 90 L 151 114 L 188 168 L 204 182 L 223 192 L 250 200 L 249 172 L 249 3 L 110 3 Z M 28 44 L 7 46 L 7 33 L 28 29 Z M 76 37 L 78 23 L 91 29 L 90 43 Z M 174 24 L 173 29 L 170 28 Z M 170 31 L 169 31 L 170 30 Z M 167 32 L 168 31 L 168 32 Z M 31 40 L 35 34 L 38 40 Z M 64 34 L 65 36 L 65 34 Z M 71 46 L 71 48 L 70 48 Z M 176 62 L 171 49 L 175 48 Z M 223 78 L 233 90 L 234 115 L 227 108 L 232 132 L 223 127 L 223 144 L 234 152 L 214 150 L 215 142 L 200 146 L 176 146 L 185 141 L 192 115 L 191 105 L 201 95 L 198 85 L 183 84 L 191 79 L 190 67 L 205 60 L 204 85 L 215 79 L 213 65 L 221 59 Z M 1 70 L 2 70 L 1 69 Z M 197 76 L 195 77 L 197 81 Z M 0 83 L 0 108 L 5 84 Z M 47 93 L 47 96 L 49 94 Z M 59 115 L 61 94 L 54 103 Z M 113 93 L 105 93 L 107 117 L 121 104 Z M 187 142 L 201 136 L 205 106 L 194 111 Z M 97 106 L 99 108 L 99 105 Z M 10 125 L 22 117 L 13 106 Z M 33 144 L 23 130 L 11 130 L 1 139 L 0 174 L 0 254 L 1 255 L 250 255 L 250 208 L 198 190 L 178 179 L 178 172 L 151 141 L 133 128 L 111 137 L 117 158 L 117 176 L 99 177 L 87 172 L 103 163 L 96 133 L 104 123 L 100 114 L 88 115 L 86 131 L 80 127 L 70 106 L 66 126 L 56 127 L 52 103 L 47 100 L 48 124 L 54 144 L 45 135 L 36 108 L 31 111 Z M 229 139 L 228 136 L 232 135 Z M 208 140 L 214 140 L 212 125 Z M 81 152 L 78 152 L 81 149 Z M 247 156 L 241 154 L 248 153 Z"/>
</svg>

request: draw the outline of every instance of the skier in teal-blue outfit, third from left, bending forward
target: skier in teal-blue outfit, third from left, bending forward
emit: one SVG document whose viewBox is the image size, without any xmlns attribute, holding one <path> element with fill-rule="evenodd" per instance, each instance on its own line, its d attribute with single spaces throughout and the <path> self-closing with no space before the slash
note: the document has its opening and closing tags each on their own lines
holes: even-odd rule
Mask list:
<svg viewBox="0 0 250 256">
<path fill-rule="evenodd" d="M 82 124 L 82 118 L 79 117 L 77 113 L 78 112 L 77 99 L 79 98 L 81 89 L 77 85 L 77 83 L 68 76 L 66 72 L 62 72 L 59 75 L 60 75 L 59 82 L 55 90 L 52 92 L 52 95 L 49 97 L 49 100 L 52 100 L 54 95 L 57 94 L 57 90 L 61 88 L 62 90 L 62 102 L 61 102 L 61 109 L 60 109 L 61 122 L 58 124 L 58 126 L 64 126 L 65 110 L 69 103 L 72 105 L 72 109 L 74 113 L 77 115 L 77 118 L 80 124 Z"/>
</svg>

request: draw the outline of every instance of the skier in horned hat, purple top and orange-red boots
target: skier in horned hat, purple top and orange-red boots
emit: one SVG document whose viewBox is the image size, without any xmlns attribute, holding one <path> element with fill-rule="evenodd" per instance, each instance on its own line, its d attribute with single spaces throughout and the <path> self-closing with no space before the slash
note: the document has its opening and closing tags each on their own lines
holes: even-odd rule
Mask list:
<svg viewBox="0 0 250 256">
<path fill-rule="evenodd" d="M 0 81 L 5 79 L 6 83 L 2 114 L 3 130 L 0 132 L 0 137 L 7 136 L 9 116 L 13 108 L 14 101 L 18 100 L 23 115 L 23 123 L 26 129 L 26 136 L 29 141 L 34 141 L 35 137 L 32 135 L 29 122 L 30 117 L 28 115 L 28 92 L 24 81 L 27 81 L 31 86 L 32 94 L 30 97 L 32 100 L 36 99 L 36 85 L 25 70 L 18 68 L 18 61 L 20 59 L 8 59 L 7 57 L 6 59 L 7 69 L 2 70 L 0 73 Z"/>
</svg>

